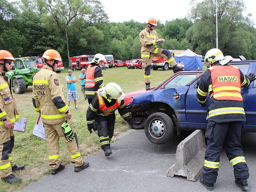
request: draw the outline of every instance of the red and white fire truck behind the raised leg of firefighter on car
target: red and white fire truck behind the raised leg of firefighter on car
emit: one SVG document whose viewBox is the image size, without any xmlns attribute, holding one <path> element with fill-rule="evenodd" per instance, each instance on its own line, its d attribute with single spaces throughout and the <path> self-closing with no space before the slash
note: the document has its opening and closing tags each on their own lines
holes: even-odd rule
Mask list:
<svg viewBox="0 0 256 192">
<path fill-rule="evenodd" d="M 169 50 L 171 51 L 172 55 L 178 55 L 183 53 L 185 50 Z M 158 68 L 162 68 L 164 71 L 171 68 L 167 59 L 165 57 L 153 57 L 152 58 L 152 69 L 157 70 Z"/>
</svg>

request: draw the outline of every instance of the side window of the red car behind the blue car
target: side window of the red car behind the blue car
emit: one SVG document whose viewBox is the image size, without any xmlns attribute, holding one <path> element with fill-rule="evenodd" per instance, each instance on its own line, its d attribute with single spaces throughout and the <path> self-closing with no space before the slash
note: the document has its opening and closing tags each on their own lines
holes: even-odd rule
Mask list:
<svg viewBox="0 0 256 192">
<path fill-rule="evenodd" d="M 190 81 L 196 78 L 196 74 L 184 74 L 184 75 L 177 75 L 174 77 L 169 83 L 167 83 L 164 88 L 171 88 L 177 87 L 188 84 Z"/>
</svg>

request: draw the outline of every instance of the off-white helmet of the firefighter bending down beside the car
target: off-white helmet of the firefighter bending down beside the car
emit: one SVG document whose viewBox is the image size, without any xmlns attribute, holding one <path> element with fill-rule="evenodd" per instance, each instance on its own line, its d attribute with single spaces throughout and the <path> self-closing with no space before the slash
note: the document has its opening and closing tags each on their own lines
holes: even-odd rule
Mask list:
<svg viewBox="0 0 256 192">
<path fill-rule="evenodd" d="M 98 92 L 100 96 L 106 95 L 109 99 L 124 99 L 124 92 L 122 91 L 121 87 L 114 82 L 106 84 L 106 86 L 100 88 Z"/>
</svg>

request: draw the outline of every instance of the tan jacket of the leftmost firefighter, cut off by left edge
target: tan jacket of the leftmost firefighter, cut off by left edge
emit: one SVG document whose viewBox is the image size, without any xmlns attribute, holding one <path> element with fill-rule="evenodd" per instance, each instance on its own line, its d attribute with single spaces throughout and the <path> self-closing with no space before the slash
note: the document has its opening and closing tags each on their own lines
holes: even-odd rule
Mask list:
<svg viewBox="0 0 256 192">
<path fill-rule="evenodd" d="M 12 81 L 5 72 L 0 73 L 0 94 L 0 131 L 6 131 L 3 120 L 11 120 L 14 125 L 15 121 L 20 121 L 20 115 L 12 92 Z"/>
</svg>

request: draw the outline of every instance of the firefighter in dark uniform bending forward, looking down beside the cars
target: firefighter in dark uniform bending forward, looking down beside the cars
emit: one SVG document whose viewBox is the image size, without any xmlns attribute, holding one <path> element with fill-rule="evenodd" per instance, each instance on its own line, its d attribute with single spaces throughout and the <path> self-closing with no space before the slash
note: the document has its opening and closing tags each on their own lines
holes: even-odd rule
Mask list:
<svg viewBox="0 0 256 192">
<path fill-rule="evenodd" d="M 114 134 L 116 109 L 131 126 L 131 118 L 124 104 L 124 92 L 118 84 L 112 82 L 106 84 L 94 94 L 92 103 L 86 113 L 86 122 L 90 133 L 92 133 L 93 122 L 96 121 L 98 123 L 100 146 L 105 156 L 112 154 L 110 141 Z"/>
</svg>

